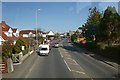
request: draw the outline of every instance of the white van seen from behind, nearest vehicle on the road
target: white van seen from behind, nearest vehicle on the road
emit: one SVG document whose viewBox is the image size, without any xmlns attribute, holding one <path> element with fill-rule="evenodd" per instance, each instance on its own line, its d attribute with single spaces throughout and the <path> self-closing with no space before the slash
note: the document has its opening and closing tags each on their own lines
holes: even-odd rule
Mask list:
<svg viewBox="0 0 120 80">
<path fill-rule="evenodd" d="M 38 54 L 39 55 L 48 55 L 49 52 L 50 52 L 49 51 L 49 45 L 43 44 L 43 45 L 40 46 Z"/>
</svg>

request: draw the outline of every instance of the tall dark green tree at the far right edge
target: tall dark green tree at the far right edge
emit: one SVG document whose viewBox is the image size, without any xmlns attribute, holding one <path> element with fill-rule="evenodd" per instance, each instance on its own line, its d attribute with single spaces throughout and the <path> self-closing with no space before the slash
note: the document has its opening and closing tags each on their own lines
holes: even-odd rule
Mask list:
<svg viewBox="0 0 120 80">
<path fill-rule="evenodd" d="M 108 6 L 101 19 L 101 40 L 112 45 L 120 37 L 120 19 L 115 7 Z"/>
</svg>

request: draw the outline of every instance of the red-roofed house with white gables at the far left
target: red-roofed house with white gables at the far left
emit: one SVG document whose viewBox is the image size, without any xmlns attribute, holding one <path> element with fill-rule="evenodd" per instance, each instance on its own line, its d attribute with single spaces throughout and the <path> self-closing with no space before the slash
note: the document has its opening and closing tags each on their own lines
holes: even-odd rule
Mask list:
<svg viewBox="0 0 120 80">
<path fill-rule="evenodd" d="M 1 33 L 0 33 L 0 45 L 2 45 L 5 41 L 13 41 L 16 43 L 16 40 L 19 38 L 19 31 L 18 29 L 13 29 L 9 25 L 6 24 L 5 21 L 0 23 Z"/>
</svg>

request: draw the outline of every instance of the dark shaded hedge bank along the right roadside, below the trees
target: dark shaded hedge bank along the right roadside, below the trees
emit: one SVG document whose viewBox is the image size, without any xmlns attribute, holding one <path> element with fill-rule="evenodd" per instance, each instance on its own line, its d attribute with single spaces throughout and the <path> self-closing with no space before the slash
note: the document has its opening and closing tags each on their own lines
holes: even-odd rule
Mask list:
<svg viewBox="0 0 120 80">
<path fill-rule="evenodd" d="M 86 44 L 75 43 L 75 45 L 86 48 L 89 51 L 94 52 L 94 54 L 99 54 L 106 58 L 117 61 L 120 64 L 120 45 L 119 46 L 108 46 L 108 44 L 103 42 L 91 42 L 88 41 Z"/>
</svg>

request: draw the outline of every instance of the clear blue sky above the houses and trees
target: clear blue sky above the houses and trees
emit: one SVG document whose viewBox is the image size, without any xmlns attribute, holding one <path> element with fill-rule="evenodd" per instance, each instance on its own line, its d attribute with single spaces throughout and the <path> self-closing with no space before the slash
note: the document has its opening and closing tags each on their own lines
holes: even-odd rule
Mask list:
<svg viewBox="0 0 120 80">
<path fill-rule="evenodd" d="M 42 31 L 75 31 L 83 25 L 89 8 L 102 12 L 108 6 L 118 11 L 118 2 L 2 2 L 2 20 L 12 28 Z M 40 9 L 40 10 L 39 10 Z M 37 14 L 37 18 L 36 18 Z M 37 24 L 36 24 L 37 19 Z"/>
</svg>

